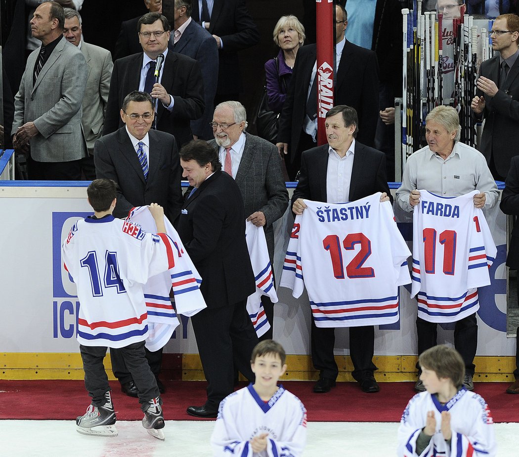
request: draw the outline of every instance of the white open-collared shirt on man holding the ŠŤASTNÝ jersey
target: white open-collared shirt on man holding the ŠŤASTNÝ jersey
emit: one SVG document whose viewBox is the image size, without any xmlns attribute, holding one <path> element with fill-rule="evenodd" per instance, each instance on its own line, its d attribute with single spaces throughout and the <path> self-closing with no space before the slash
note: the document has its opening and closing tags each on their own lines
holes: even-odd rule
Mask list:
<svg viewBox="0 0 519 457">
<path fill-rule="evenodd" d="M 335 149 L 329 147 L 328 168 L 326 169 L 326 202 L 345 203 L 350 201 L 354 153 L 355 140 L 352 141 L 344 157 L 340 157 Z"/>
</svg>

